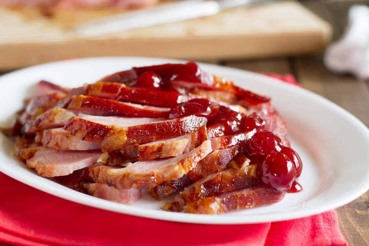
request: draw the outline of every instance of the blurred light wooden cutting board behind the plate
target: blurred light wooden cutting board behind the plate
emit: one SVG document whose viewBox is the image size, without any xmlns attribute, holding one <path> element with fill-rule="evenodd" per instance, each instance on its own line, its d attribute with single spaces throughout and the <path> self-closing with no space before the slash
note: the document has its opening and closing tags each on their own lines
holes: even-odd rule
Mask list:
<svg viewBox="0 0 369 246">
<path fill-rule="evenodd" d="M 307 54 L 321 52 L 331 39 L 330 24 L 296 1 L 93 38 L 70 31 L 76 24 L 120 12 L 0 8 L 0 70 L 92 56 L 205 60 Z"/>
</svg>

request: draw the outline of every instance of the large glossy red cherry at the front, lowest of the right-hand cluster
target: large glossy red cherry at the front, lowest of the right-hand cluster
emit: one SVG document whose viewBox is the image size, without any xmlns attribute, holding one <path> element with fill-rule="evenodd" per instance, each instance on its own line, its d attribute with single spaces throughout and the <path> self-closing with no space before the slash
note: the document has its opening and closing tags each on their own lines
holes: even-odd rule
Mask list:
<svg viewBox="0 0 369 246">
<path fill-rule="evenodd" d="M 259 163 L 258 173 L 261 181 L 279 191 L 290 192 L 296 178 L 296 169 L 282 152 L 272 152 Z"/>
</svg>

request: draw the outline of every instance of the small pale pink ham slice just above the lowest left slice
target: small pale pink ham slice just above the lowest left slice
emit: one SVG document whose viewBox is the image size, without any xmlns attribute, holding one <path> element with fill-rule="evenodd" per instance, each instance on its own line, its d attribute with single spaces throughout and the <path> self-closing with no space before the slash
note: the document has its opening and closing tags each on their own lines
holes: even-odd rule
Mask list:
<svg viewBox="0 0 369 246">
<path fill-rule="evenodd" d="M 100 143 L 87 142 L 70 135 L 63 128 L 45 130 L 41 138 L 42 145 L 59 150 L 94 150 L 100 149 Z"/>
</svg>

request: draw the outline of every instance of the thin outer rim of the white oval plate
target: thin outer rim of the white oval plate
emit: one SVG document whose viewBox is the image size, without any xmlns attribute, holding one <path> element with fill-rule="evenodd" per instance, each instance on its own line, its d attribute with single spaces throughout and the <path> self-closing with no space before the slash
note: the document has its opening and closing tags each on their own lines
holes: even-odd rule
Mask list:
<svg viewBox="0 0 369 246">
<path fill-rule="evenodd" d="M 62 61 L 56 61 L 56 62 L 49 62 L 49 63 L 43 63 L 40 65 L 25 67 L 22 69 L 18 69 L 15 71 L 12 71 L 10 73 L 6 73 L 4 75 L 0 76 L 0 79 L 3 79 L 4 77 L 11 77 L 14 74 L 17 73 L 23 73 L 27 72 L 28 70 L 33 69 L 40 69 L 40 68 L 47 68 L 47 66 L 57 66 L 64 63 L 70 63 L 70 62 L 76 62 L 76 63 L 83 63 L 86 61 L 93 62 L 94 60 L 111 60 L 111 59 L 117 59 L 117 60 L 145 60 L 146 62 L 187 62 L 186 60 L 177 60 L 177 59 L 166 59 L 166 58 L 147 58 L 147 57 L 140 57 L 140 56 L 107 56 L 107 57 L 95 57 L 95 58 L 82 58 L 82 59 L 71 59 L 71 60 L 62 60 Z M 261 75 L 255 72 L 246 71 L 242 69 L 232 68 L 232 67 L 224 67 L 220 65 L 213 65 L 208 63 L 202 63 L 198 62 L 200 66 L 207 66 L 207 67 L 213 67 L 222 69 L 223 71 L 227 71 L 229 73 L 235 73 L 239 76 L 247 76 L 249 78 L 252 77 L 259 77 L 259 79 L 265 80 L 265 82 L 268 83 L 275 83 L 275 81 L 278 81 L 277 79 Z M 262 77 L 262 78 L 261 78 Z M 269 80 L 269 81 L 268 81 Z M 339 105 L 333 103 L 332 101 L 313 93 L 312 91 L 309 91 L 304 88 L 296 87 L 294 85 L 290 85 L 287 83 L 277 83 L 275 86 L 280 86 L 283 89 L 286 90 L 301 90 L 301 93 L 307 94 L 309 97 L 313 97 L 316 100 L 319 100 L 321 103 L 327 104 L 332 108 L 332 110 L 335 111 L 335 113 L 339 113 L 344 115 L 345 117 L 348 117 L 352 124 L 354 124 L 358 129 L 360 129 L 360 132 L 365 133 L 366 138 L 369 140 L 369 129 L 354 115 L 352 115 L 350 112 L 345 110 L 344 108 L 340 107 Z M 31 187 L 34 187 L 38 190 L 44 191 L 46 193 L 49 193 L 51 195 L 55 195 L 57 197 L 76 202 L 79 204 L 87 205 L 90 207 L 100 208 L 108 211 L 118 212 L 122 214 L 127 215 L 134 215 L 134 216 L 140 216 L 145 218 L 151 218 L 151 219 L 160 219 L 165 221 L 175 221 L 175 222 L 184 222 L 184 223 L 195 223 L 195 224 L 253 224 L 253 223 L 262 223 L 262 222 L 274 222 L 274 221 L 284 221 L 288 219 L 296 219 L 296 218 L 302 218 L 305 216 L 320 214 L 322 212 L 329 211 L 334 208 L 341 207 L 342 205 L 345 205 L 353 200 L 355 200 L 357 197 L 364 194 L 369 189 L 369 179 L 366 180 L 366 183 L 363 183 L 361 187 L 358 187 L 355 189 L 354 193 L 347 194 L 345 199 L 341 199 L 339 202 L 335 202 L 334 204 L 326 204 L 323 208 L 310 208 L 308 210 L 294 210 L 289 211 L 288 214 L 282 213 L 283 216 L 278 216 L 278 212 L 269 214 L 268 221 L 265 219 L 257 219 L 255 216 L 252 216 L 253 219 L 245 219 L 247 215 L 245 216 L 232 216 L 232 218 L 227 218 L 223 216 L 215 216 L 215 215 L 202 215 L 202 214 L 184 214 L 184 213 L 176 213 L 175 216 L 173 216 L 173 212 L 168 211 L 161 211 L 161 210 L 154 210 L 154 209 L 146 209 L 146 208 L 138 208 L 134 207 L 132 205 L 125 205 L 125 204 L 118 204 L 116 202 L 106 201 L 102 200 L 100 198 L 96 198 L 90 195 L 86 195 L 83 193 L 79 193 L 78 191 L 74 190 L 64 190 L 62 188 L 65 188 L 62 185 L 58 185 L 58 192 L 55 194 L 55 187 L 52 186 L 44 186 L 44 182 L 37 182 L 38 180 L 44 180 L 45 179 L 41 176 L 37 176 L 37 178 L 34 179 L 32 176 L 25 176 L 21 177 L 20 174 L 17 174 L 15 171 L 12 171 L 11 168 L 7 168 L 6 165 L 3 165 L 0 163 L 0 171 L 6 174 L 7 176 L 12 177 L 15 180 L 18 180 L 24 184 L 27 184 Z M 54 181 L 47 180 L 47 182 L 55 183 Z M 60 186 L 60 187 L 59 187 Z M 76 194 L 78 194 L 76 196 Z M 93 200 L 94 202 L 91 204 L 90 201 Z M 107 206 L 108 204 L 108 206 Z M 221 218 L 222 217 L 222 218 Z M 263 216 L 261 216 L 263 217 Z M 250 217 L 249 217 L 250 218 Z"/>
</svg>

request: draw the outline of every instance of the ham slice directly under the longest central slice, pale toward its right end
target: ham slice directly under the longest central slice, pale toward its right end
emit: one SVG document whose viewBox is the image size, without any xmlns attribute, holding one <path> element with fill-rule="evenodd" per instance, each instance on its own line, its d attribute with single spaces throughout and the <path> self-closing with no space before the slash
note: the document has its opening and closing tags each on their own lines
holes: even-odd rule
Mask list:
<svg viewBox="0 0 369 246">
<path fill-rule="evenodd" d="M 151 160 L 179 156 L 201 145 L 207 140 L 206 127 L 183 136 L 144 143 L 142 145 L 127 145 L 123 149 L 104 152 L 100 161 L 104 164 L 118 165 L 137 160 Z"/>
</svg>

